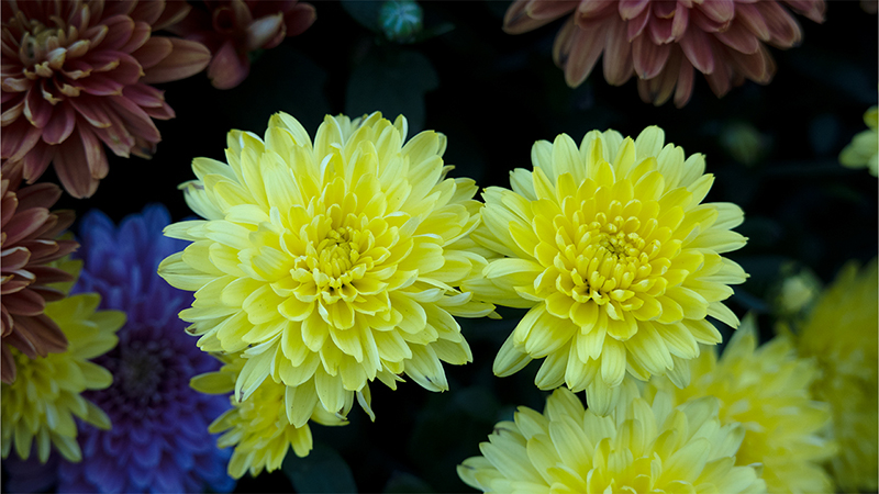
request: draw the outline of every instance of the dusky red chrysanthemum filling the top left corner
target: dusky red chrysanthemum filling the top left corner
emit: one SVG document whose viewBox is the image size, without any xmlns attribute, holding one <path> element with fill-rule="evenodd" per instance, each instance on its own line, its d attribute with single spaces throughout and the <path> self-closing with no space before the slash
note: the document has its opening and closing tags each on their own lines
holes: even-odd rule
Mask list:
<svg viewBox="0 0 879 494">
<path fill-rule="evenodd" d="M 103 146 L 149 158 L 162 139 L 153 119 L 174 111 L 151 83 L 200 72 L 208 49 L 153 36 L 182 19 L 186 2 L 2 2 L 3 160 L 29 182 L 55 164 L 64 189 L 90 197 L 107 176 Z"/>
</svg>

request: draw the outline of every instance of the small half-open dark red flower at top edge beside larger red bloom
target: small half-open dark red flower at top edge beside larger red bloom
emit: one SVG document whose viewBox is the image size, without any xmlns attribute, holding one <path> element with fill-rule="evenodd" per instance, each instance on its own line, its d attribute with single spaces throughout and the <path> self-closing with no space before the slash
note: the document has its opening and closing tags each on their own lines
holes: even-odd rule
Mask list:
<svg viewBox="0 0 879 494">
<path fill-rule="evenodd" d="M 205 0 L 170 32 L 204 44 L 213 54 L 208 77 L 216 89 L 232 89 L 251 72 L 248 54 L 302 34 L 316 19 L 314 7 L 297 0 Z"/>
</svg>

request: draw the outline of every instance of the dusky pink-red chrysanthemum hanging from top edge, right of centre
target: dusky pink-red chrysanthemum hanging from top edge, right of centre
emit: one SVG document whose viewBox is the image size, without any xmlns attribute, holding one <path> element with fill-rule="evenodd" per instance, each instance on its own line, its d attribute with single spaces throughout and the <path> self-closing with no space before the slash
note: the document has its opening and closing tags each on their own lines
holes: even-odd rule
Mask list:
<svg viewBox="0 0 879 494">
<path fill-rule="evenodd" d="M 782 2 L 824 21 L 823 0 L 516 0 L 503 30 L 525 33 L 571 13 L 553 46 L 568 86 L 580 86 L 603 54 L 608 83 L 622 86 L 637 75 L 642 100 L 660 105 L 674 94 L 681 108 L 692 94 L 694 70 L 717 97 L 745 79 L 772 79 L 776 65 L 766 44 L 786 49 L 802 40 Z"/>
</svg>

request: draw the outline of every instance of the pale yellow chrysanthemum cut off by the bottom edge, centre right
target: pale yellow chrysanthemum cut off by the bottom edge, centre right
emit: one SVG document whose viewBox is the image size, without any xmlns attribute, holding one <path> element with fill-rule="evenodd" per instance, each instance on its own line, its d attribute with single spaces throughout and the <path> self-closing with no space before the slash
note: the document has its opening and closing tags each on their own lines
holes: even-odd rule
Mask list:
<svg viewBox="0 0 879 494">
<path fill-rule="evenodd" d="M 499 423 L 458 475 L 482 492 L 766 492 L 758 465 L 734 465 L 744 434 L 721 424 L 714 397 L 672 407 L 667 394 L 635 392 L 602 417 L 559 388 L 543 415 L 521 406 Z"/>
</svg>

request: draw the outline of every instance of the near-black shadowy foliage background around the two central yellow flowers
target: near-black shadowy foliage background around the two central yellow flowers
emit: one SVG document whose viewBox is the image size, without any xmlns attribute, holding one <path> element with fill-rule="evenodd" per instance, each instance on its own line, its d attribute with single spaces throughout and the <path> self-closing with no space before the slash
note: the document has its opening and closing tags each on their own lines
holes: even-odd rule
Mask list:
<svg viewBox="0 0 879 494">
<path fill-rule="evenodd" d="M 457 167 L 453 175 L 481 187 L 509 187 L 510 170 L 531 167 L 537 139 L 567 133 L 579 143 L 586 132 L 609 127 L 634 136 L 656 124 L 688 155 L 705 154 L 708 172 L 717 177 L 709 201 L 745 210 L 738 231 L 748 245 L 728 257 L 750 279 L 736 287 L 728 305 L 739 316 L 759 314 L 765 338 L 771 336 L 782 269 L 806 267 L 827 283 L 847 260 L 876 256 L 877 180 L 837 161 L 877 102 L 877 16 L 857 1 L 828 2 L 822 25 L 798 18 L 803 43 L 787 52 L 770 48 L 778 65 L 770 85 L 746 82 L 717 99 L 698 76 L 681 110 L 643 103 L 634 78 L 609 86 L 600 61 L 586 83 L 568 88 L 550 55 L 561 22 L 508 35 L 501 31 L 505 1 L 423 2 L 425 27 L 446 32 L 413 44 L 367 29 L 370 2 L 314 4 L 314 25 L 259 54 L 240 87 L 220 91 L 203 75 L 164 85 L 177 117 L 157 123 L 163 142 L 155 157 L 110 156 L 110 175 L 94 197 L 65 195 L 59 206 L 79 216 L 97 207 L 119 221 L 162 202 L 179 221 L 191 215 L 177 190 L 194 178 L 191 159 L 224 159 L 230 128 L 262 135 L 277 111 L 296 116 L 312 136 L 326 113 L 381 110 L 393 120 L 402 112 L 410 136 L 424 128 L 445 133 L 445 160 Z M 748 136 L 755 145 L 747 145 Z M 55 178 L 48 172 L 44 180 Z M 539 362 L 511 378 L 491 372 L 521 314 L 461 321 L 475 362 L 446 367 L 449 392 L 431 393 L 411 382 L 391 392 L 377 383 L 375 423 L 355 405 L 346 427 L 312 425 L 315 451 L 303 460 L 290 451 L 285 471 L 307 490 L 319 489 L 321 479 L 327 489 L 349 485 L 346 463 L 360 492 L 468 491 L 455 465 L 478 454 L 478 444 L 515 406 L 543 409 L 546 393 L 533 384 Z M 291 490 L 282 471 L 245 476 L 237 487 Z"/>
</svg>

